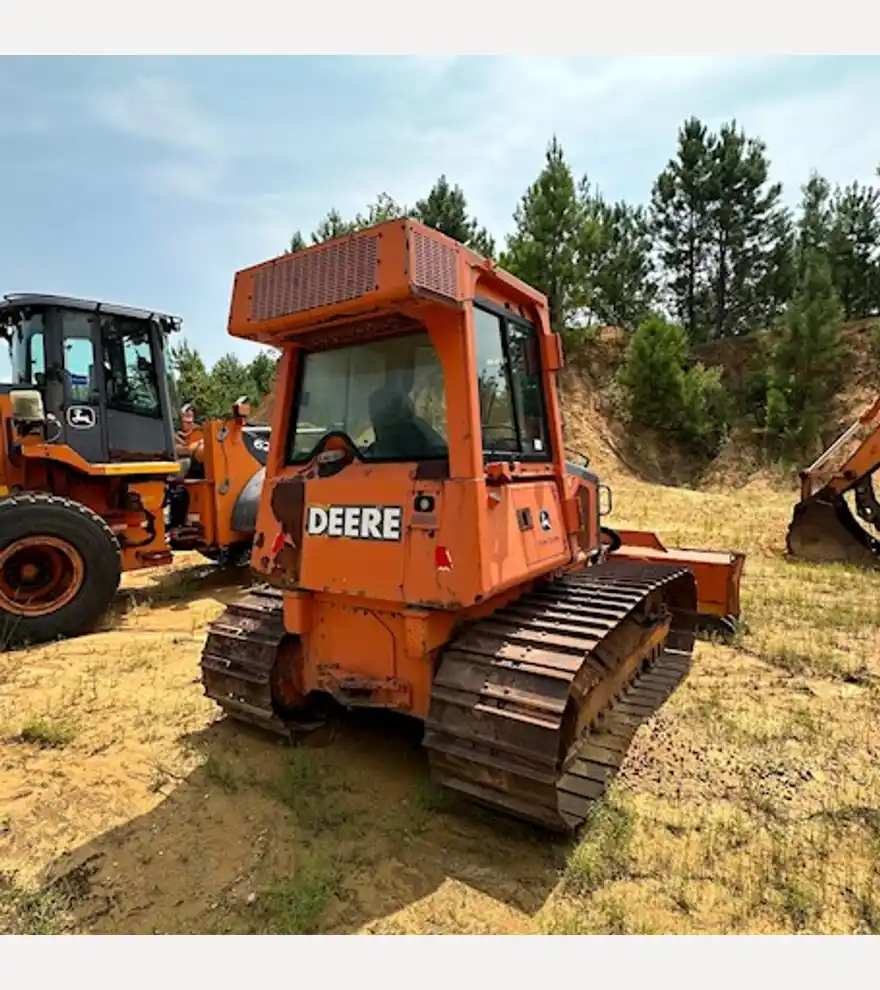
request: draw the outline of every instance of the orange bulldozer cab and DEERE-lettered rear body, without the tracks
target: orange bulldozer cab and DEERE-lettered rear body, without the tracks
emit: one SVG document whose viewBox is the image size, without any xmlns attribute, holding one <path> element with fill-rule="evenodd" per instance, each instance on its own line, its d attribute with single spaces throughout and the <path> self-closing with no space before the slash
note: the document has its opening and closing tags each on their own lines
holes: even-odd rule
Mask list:
<svg viewBox="0 0 880 990">
<path fill-rule="evenodd" d="M 341 298 L 321 305 L 331 260 Z M 283 354 L 252 558 L 270 583 L 345 595 L 369 574 L 376 599 L 467 607 L 569 564 L 582 522 L 595 548 L 595 498 L 582 520 L 566 477 L 558 338 L 512 276 L 392 222 L 240 274 L 239 325 Z"/>
</svg>

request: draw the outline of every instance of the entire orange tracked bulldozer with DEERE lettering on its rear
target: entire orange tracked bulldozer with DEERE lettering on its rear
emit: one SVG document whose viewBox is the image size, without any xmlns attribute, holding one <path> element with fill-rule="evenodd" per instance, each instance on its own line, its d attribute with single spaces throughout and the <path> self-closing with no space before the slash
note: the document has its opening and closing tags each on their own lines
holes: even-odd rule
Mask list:
<svg viewBox="0 0 880 990">
<path fill-rule="evenodd" d="M 207 696 L 284 736 L 322 695 L 406 713 L 440 784 L 576 829 L 701 616 L 738 618 L 743 555 L 601 525 L 546 298 L 418 223 L 238 272 L 229 332 L 282 357 L 263 587 L 208 627 Z"/>
</svg>

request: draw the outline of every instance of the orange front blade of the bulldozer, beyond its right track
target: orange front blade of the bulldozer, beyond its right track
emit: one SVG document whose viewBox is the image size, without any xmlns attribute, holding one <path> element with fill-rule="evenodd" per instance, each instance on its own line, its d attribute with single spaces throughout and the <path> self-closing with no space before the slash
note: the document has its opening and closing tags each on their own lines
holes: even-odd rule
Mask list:
<svg viewBox="0 0 880 990">
<path fill-rule="evenodd" d="M 738 550 L 669 548 L 656 533 L 615 530 L 621 545 L 609 554 L 609 562 L 640 560 L 645 563 L 687 567 L 697 584 L 697 629 L 732 633 L 740 618 L 739 588 L 746 555 Z"/>
</svg>

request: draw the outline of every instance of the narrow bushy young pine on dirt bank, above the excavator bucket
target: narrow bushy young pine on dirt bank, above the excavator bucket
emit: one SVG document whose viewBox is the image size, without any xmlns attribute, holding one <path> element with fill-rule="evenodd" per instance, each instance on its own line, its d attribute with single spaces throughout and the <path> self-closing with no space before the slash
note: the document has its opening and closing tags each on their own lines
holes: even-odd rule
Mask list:
<svg viewBox="0 0 880 990">
<path fill-rule="evenodd" d="M 826 258 L 808 253 L 804 275 L 770 352 L 764 431 L 778 454 L 807 454 L 840 384 L 843 308 Z"/>
</svg>

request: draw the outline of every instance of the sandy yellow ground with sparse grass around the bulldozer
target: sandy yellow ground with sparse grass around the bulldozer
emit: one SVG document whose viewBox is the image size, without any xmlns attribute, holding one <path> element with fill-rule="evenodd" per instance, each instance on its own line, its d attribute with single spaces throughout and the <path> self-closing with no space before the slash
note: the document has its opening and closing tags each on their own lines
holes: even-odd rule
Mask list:
<svg viewBox="0 0 880 990">
<path fill-rule="evenodd" d="M 748 552 L 578 842 L 427 783 L 417 726 L 218 720 L 196 555 L 82 639 L 0 656 L 0 932 L 878 932 L 880 575 L 783 559 L 793 492 L 615 482 L 612 524 Z"/>
</svg>

